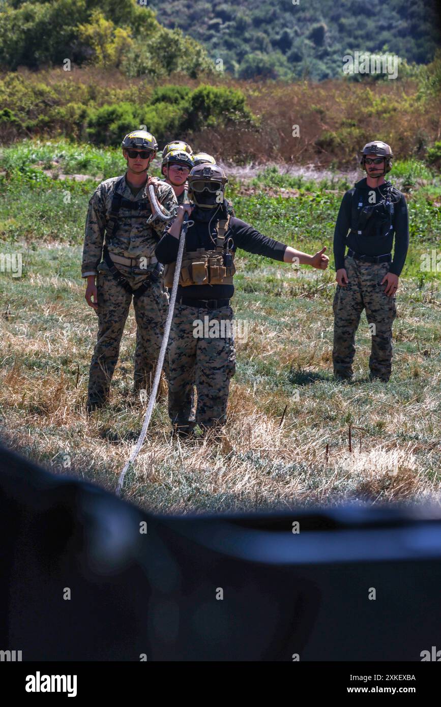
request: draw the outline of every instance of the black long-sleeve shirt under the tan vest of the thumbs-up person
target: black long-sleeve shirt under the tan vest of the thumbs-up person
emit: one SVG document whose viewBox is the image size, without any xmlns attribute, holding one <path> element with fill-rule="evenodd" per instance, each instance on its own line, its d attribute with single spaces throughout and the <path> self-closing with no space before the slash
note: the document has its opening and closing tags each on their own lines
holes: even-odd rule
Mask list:
<svg viewBox="0 0 441 707">
<path fill-rule="evenodd" d="M 198 221 L 196 214 L 190 216 L 190 220 L 194 220 L 194 226 L 189 226 L 185 239 L 185 247 L 187 251 L 197 250 L 197 248 L 206 248 L 206 250 L 214 250 L 216 248 L 216 222 L 218 216 L 214 216 L 211 221 L 210 229 L 208 230 L 208 221 Z M 233 244 L 229 240 L 233 241 Z M 283 261 L 286 245 L 280 243 L 274 238 L 269 238 L 258 230 L 241 221 L 240 218 L 232 216 L 228 226 L 228 231 L 225 233 L 225 245 L 229 242 L 230 250 L 235 252 L 237 248 L 247 250 L 249 253 L 257 253 L 274 260 Z M 165 230 L 163 237 L 155 248 L 155 255 L 158 261 L 167 264 L 175 262 L 179 241 L 174 236 Z M 234 285 L 189 285 L 187 287 L 179 286 L 178 295 L 193 298 L 196 300 L 223 300 L 233 297 Z"/>
</svg>

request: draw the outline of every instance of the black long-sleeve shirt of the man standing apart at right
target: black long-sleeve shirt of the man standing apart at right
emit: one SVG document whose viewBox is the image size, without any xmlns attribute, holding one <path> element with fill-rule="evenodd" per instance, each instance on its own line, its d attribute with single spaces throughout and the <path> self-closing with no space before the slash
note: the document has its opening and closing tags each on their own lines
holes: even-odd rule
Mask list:
<svg viewBox="0 0 441 707">
<path fill-rule="evenodd" d="M 358 189 L 356 206 L 361 210 L 364 206 L 370 206 L 372 204 L 372 201 L 369 201 L 370 192 L 375 192 L 375 199 L 378 203 L 381 199 L 384 199 L 384 194 L 389 185 L 390 182 L 384 182 L 384 184 L 380 187 L 374 189 L 374 187 L 367 186 L 365 177 L 360 180 L 360 182 L 357 182 L 355 187 L 353 187 L 353 189 L 349 189 L 349 191 L 344 195 L 341 201 L 339 216 L 337 217 L 334 231 L 334 259 L 336 270 L 344 267 L 345 245 L 361 255 L 384 255 L 392 252 L 392 245 L 394 243 L 395 236 L 394 256 L 389 272 L 392 272 L 395 275 L 401 274 L 401 270 L 403 269 L 404 262 L 406 260 L 409 242 L 408 213 L 404 194 L 398 192 L 401 196 L 399 201 L 394 204 L 392 228 L 386 235 L 365 236 L 363 234 L 359 235 L 353 230 L 351 230 L 351 233 L 348 235 L 348 230 L 350 228 L 355 229 L 355 223 L 352 223 L 353 199 L 355 198 L 353 197 L 353 194 L 355 189 Z M 374 217 L 372 216 L 372 218 Z"/>
</svg>

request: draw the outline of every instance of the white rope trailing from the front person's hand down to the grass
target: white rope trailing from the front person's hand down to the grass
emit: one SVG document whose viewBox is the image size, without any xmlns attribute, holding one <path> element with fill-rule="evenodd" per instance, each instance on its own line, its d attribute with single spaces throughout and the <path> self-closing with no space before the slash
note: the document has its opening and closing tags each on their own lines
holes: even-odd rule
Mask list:
<svg viewBox="0 0 441 707">
<path fill-rule="evenodd" d="M 139 450 L 142 447 L 143 441 L 146 438 L 148 425 L 150 423 L 151 416 L 153 413 L 153 407 L 155 405 L 155 400 L 156 400 L 156 393 L 158 392 L 158 387 L 159 387 L 160 374 L 161 374 L 161 371 L 163 370 L 163 365 L 164 365 L 164 358 L 165 358 L 165 351 L 167 349 L 167 344 L 168 344 L 168 337 L 170 336 L 170 329 L 172 326 L 173 310 L 175 309 L 175 300 L 176 300 L 176 292 L 177 292 L 177 283 L 179 281 L 179 276 L 180 276 L 180 271 L 181 271 L 182 255 L 184 253 L 185 235 L 187 233 L 188 226 L 189 226 L 189 220 L 188 220 L 188 214 L 186 213 L 186 214 L 184 214 L 184 221 L 182 223 L 182 229 L 181 229 L 181 235 L 180 235 L 180 243 L 179 243 L 179 248 L 177 250 L 175 276 L 173 277 L 173 286 L 172 286 L 172 292 L 170 294 L 170 303 L 168 305 L 167 319 L 165 320 L 164 336 L 163 336 L 163 341 L 162 341 L 160 351 L 159 351 L 158 363 L 156 364 L 155 378 L 153 380 L 153 386 L 152 386 L 152 390 L 151 390 L 150 399 L 148 400 L 148 407 L 147 407 L 147 411 L 146 411 L 146 416 L 143 421 L 141 434 L 139 435 L 138 441 L 136 442 L 136 447 L 134 448 L 133 452 L 131 452 L 129 461 L 125 465 L 124 469 L 122 469 L 121 474 L 119 474 L 119 479 L 118 479 L 118 484 L 117 484 L 117 489 L 116 489 L 117 496 L 120 496 L 120 494 L 121 494 L 122 486 L 124 484 L 124 477 L 126 475 L 127 469 L 129 469 L 130 465 L 134 463 L 134 460 L 138 456 Z"/>
</svg>

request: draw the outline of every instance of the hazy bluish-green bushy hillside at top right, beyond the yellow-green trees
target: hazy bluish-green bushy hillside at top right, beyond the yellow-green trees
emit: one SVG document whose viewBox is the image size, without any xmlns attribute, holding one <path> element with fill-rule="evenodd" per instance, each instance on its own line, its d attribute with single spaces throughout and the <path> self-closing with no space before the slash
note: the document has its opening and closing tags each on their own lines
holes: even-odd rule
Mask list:
<svg viewBox="0 0 441 707">
<path fill-rule="evenodd" d="M 240 78 L 334 78 L 353 52 L 428 64 L 440 45 L 435 0 L 151 0 Z"/>
</svg>

